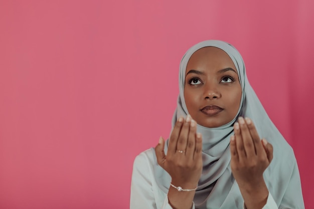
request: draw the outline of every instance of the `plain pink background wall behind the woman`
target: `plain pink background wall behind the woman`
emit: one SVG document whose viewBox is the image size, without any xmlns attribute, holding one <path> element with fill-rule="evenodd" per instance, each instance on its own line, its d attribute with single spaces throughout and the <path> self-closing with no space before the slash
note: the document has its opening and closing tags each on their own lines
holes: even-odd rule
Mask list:
<svg viewBox="0 0 314 209">
<path fill-rule="evenodd" d="M 168 137 L 180 60 L 207 39 L 243 55 L 314 208 L 313 9 L 311 0 L 0 1 L 0 208 L 128 208 L 133 159 Z"/>
</svg>

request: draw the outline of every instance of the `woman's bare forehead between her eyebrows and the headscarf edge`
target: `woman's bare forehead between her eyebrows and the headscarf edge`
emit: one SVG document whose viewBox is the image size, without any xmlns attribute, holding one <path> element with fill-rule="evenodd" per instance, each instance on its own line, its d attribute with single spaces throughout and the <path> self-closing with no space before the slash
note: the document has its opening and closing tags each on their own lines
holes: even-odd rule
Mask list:
<svg viewBox="0 0 314 209">
<path fill-rule="evenodd" d="M 195 67 L 218 68 L 217 70 L 230 67 L 235 69 L 229 55 L 217 47 L 204 47 L 194 52 L 189 59 L 186 70 Z"/>
</svg>

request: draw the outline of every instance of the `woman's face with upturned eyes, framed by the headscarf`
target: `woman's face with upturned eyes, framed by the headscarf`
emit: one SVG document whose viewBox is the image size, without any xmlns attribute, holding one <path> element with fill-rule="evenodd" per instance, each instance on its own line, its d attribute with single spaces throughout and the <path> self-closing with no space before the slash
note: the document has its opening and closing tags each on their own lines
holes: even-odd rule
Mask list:
<svg viewBox="0 0 314 209">
<path fill-rule="evenodd" d="M 190 58 L 185 77 L 184 98 L 192 118 L 214 128 L 236 116 L 241 102 L 236 67 L 226 52 L 205 47 Z"/>
</svg>

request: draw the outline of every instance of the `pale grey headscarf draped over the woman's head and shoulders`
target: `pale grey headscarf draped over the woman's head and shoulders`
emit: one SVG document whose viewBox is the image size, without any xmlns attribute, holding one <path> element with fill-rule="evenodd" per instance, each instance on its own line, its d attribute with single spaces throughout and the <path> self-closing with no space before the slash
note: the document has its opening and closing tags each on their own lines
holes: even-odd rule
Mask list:
<svg viewBox="0 0 314 209">
<path fill-rule="evenodd" d="M 251 118 L 259 136 L 266 138 L 273 145 L 274 157 L 263 175 L 267 188 L 278 207 L 304 208 L 293 150 L 265 112 L 248 82 L 243 59 L 232 45 L 216 40 L 204 41 L 191 47 L 183 56 L 179 73 L 180 94 L 172 126 L 174 127 L 179 117 L 186 117 L 189 114 L 184 99 L 186 68 L 193 53 L 204 47 L 217 47 L 229 55 L 238 73 L 242 97 L 237 115 L 228 124 L 217 128 L 197 125 L 197 132 L 203 136 L 203 171 L 194 197 L 195 207 L 202 209 L 243 207 L 243 198 L 230 167 L 229 147 L 230 136 L 234 134 L 233 124 L 239 116 L 243 116 Z M 166 143 L 165 152 L 167 150 L 168 143 Z M 286 162 L 285 160 L 289 161 Z M 164 189 L 169 186 L 169 182 L 163 180 L 162 173 L 158 168 L 155 169 L 155 174 L 156 178 L 161 177 L 157 179 L 161 188 Z M 293 186 L 289 186 L 289 184 Z M 287 196 L 290 193 L 291 195 L 292 193 L 298 194 Z"/>
</svg>

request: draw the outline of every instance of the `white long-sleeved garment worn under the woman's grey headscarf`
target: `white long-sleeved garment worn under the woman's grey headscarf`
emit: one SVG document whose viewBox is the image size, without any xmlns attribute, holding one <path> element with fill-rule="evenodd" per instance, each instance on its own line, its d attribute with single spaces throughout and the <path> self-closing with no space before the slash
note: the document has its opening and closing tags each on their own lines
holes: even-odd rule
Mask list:
<svg viewBox="0 0 314 209">
<path fill-rule="evenodd" d="M 136 156 L 131 181 L 130 209 L 172 209 L 168 202 L 168 190 L 163 190 L 155 180 L 156 177 L 162 177 L 155 176 L 153 169 L 156 164 L 153 148 Z M 168 185 L 170 185 L 171 177 L 166 171 L 163 178 L 166 178 L 169 181 Z M 237 193 L 240 194 L 240 190 Z M 243 199 L 242 202 L 235 205 L 235 208 L 239 208 L 238 206 L 244 208 Z M 195 209 L 194 204 L 193 209 Z M 262 209 L 278 209 L 270 193 L 267 203 Z"/>
</svg>

